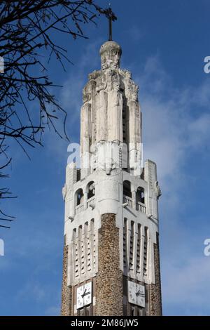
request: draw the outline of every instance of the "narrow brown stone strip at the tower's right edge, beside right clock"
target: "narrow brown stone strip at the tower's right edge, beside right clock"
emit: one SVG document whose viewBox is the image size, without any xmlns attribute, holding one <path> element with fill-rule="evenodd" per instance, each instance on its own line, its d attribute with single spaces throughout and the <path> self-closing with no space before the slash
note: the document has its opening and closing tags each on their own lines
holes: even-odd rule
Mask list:
<svg viewBox="0 0 210 330">
<path fill-rule="evenodd" d="M 154 244 L 155 284 L 149 285 L 150 315 L 162 315 L 161 281 L 160 281 L 160 251 L 157 232 L 157 244 Z"/>
</svg>

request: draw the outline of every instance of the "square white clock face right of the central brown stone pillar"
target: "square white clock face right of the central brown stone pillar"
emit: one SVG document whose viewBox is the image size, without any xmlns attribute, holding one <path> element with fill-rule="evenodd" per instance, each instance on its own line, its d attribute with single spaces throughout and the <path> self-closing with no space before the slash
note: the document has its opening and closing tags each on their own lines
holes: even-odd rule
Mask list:
<svg viewBox="0 0 210 330">
<path fill-rule="evenodd" d="M 134 305 L 145 307 L 144 285 L 128 281 L 128 301 Z"/>
</svg>

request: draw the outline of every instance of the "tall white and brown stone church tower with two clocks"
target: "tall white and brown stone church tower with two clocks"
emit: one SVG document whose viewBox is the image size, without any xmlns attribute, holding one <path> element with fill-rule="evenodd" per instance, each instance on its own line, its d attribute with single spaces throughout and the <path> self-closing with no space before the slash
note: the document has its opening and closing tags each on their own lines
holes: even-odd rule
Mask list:
<svg viewBox="0 0 210 330">
<path fill-rule="evenodd" d="M 161 315 L 156 165 L 142 164 L 138 86 L 115 41 L 100 48 L 66 166 L 62 315 Z"/>
</svg>

